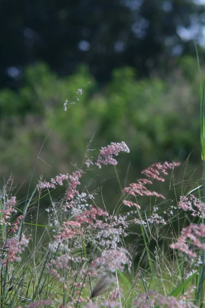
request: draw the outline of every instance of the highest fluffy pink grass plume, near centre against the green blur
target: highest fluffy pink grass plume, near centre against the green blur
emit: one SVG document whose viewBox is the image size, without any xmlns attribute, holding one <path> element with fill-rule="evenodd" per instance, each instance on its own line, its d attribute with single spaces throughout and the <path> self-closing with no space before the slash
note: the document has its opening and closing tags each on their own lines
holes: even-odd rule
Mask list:
<svg viewBox="0 0 205 308">
<path fill-rule="evenodd" d="M 126 153 L 130 152 L 129 147 L 124 141 L 120 143 L 111 142 L 110 145 L 102 147 L 101 150 L 99 151 L 99 155 L 97 157 L 95 165 L 98 166 L 99 168 L 101 168 L 101 164 L 104 165 L 110 164 L 113 166 L 117 165 L 117 160 L 113 158 L 113 155 L 118 156 L 118 153 L 120 151 Z"/>
</svg>

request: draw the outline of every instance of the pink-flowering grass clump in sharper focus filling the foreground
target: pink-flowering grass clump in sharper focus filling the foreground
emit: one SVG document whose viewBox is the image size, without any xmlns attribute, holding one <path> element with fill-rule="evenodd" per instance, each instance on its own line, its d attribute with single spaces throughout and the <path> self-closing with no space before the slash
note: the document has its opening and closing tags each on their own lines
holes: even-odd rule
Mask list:
<svg viewBox="0 0 205 308">
<path fill-rule="evenodd" d="M 23 209 L 8 180 L 0 194 L 1 308 L 205 307 L 203 200 L 187 194 L 173 205 L 152 190 L 154 182 L 174 178 L 180 165 L 164 162 L 124 187 L 112 213 L 99 207 L 96 192 L 83 187 L 82 178 L 90 168 L 117 165 L 120 152 L 130 149 L 123 141 L 112 142 L 96 156 L 87 152 L 72 174 L 41 177 Z M 53 200 L 59 186 L 64 193 Z M 50 197 L 47 224 L 39 225 L 45 196 Z M 141 198 L 148 207 L 141 206 Z M 33 207 L 37 219 L 30 222 Z M 182 213 L 184 226 L 177 234 Z"/>
</svg>

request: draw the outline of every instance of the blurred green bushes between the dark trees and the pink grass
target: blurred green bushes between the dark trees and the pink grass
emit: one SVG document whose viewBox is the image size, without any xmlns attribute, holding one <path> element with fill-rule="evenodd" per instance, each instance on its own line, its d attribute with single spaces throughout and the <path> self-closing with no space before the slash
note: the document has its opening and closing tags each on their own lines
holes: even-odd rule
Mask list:
<svg viewBox="0 0 205 308">
<path fill-rule="evenodd" d="M 83 89 L 80 96 L 78 88 Z M 75 103 L 67 111 L 65 100 Z M 133 68 L 115 69 L 103 88 L 86 66 L 62 79 L 45 63 L 38 63 L 25 70 L 18 91 L 0 92 L 1 184 L 12 172 L 18 186 L 25 182 L 22 189 L 28 187 L 38 151 L 51 128 L 33 183 L 39 174 L 48 179 L 71 172 L 71 163 L 80 167 L 94 132 L 91 148 L 96 150 L 88 153 L 91 156 L 110 142 L 125 141 L 130 147 L 130 155 L 118 158 L 121 179 L 125 179 L 129 162 L 128 181 L 154 162 L 183 162 L 191 152 L 190 163 L 196 166 L 200 161 L 199 119 L 198 72 L 192 57 L 182 57 L 166 80 L 157 74 L 138 80 Z M 96 170 L 92 176 L 99 173 Z M 101 174 L 109 183 L 115 178 L 112 189 L 118 189 L 112 166 L 105 166 Z"/>
</svg>

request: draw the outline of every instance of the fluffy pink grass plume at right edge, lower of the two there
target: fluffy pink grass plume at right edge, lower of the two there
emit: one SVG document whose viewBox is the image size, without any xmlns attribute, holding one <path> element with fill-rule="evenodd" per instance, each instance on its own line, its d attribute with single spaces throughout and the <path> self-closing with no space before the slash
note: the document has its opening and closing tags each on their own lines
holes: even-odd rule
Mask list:
<svg viewBox="0 0 205 308">
<path fill-rule="evenodd" d="M 180 237 L 177 239 L 176 243 L 171 244 L 170 247 L 179 249 L 179 251 L 191 257 L 197 257 L 196 252 L 190 248 L 190 245 L 205 250 L 205 244 L 200 241 L 203 237 L 205 237 L 205 225 L 202 223 L 199 225 L 192 223 L 181 230 Z"/>
</svg>

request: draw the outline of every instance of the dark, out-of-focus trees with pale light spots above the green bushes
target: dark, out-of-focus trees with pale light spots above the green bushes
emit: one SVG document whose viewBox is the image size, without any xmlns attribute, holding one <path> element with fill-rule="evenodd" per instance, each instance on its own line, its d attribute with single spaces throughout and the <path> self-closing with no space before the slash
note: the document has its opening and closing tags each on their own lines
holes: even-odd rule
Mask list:
<svg viewBox="0 0 205 308">
<path fill-rule="evenodd" d="M 99 81 L 123 65 L 148 76 L 194 52 L 203 24 L 204 5 L 191 0 L 2 0 L 0 85 L 19 87 L 39 60 L 60 75 L 85 63 Z"/>
</svg>

